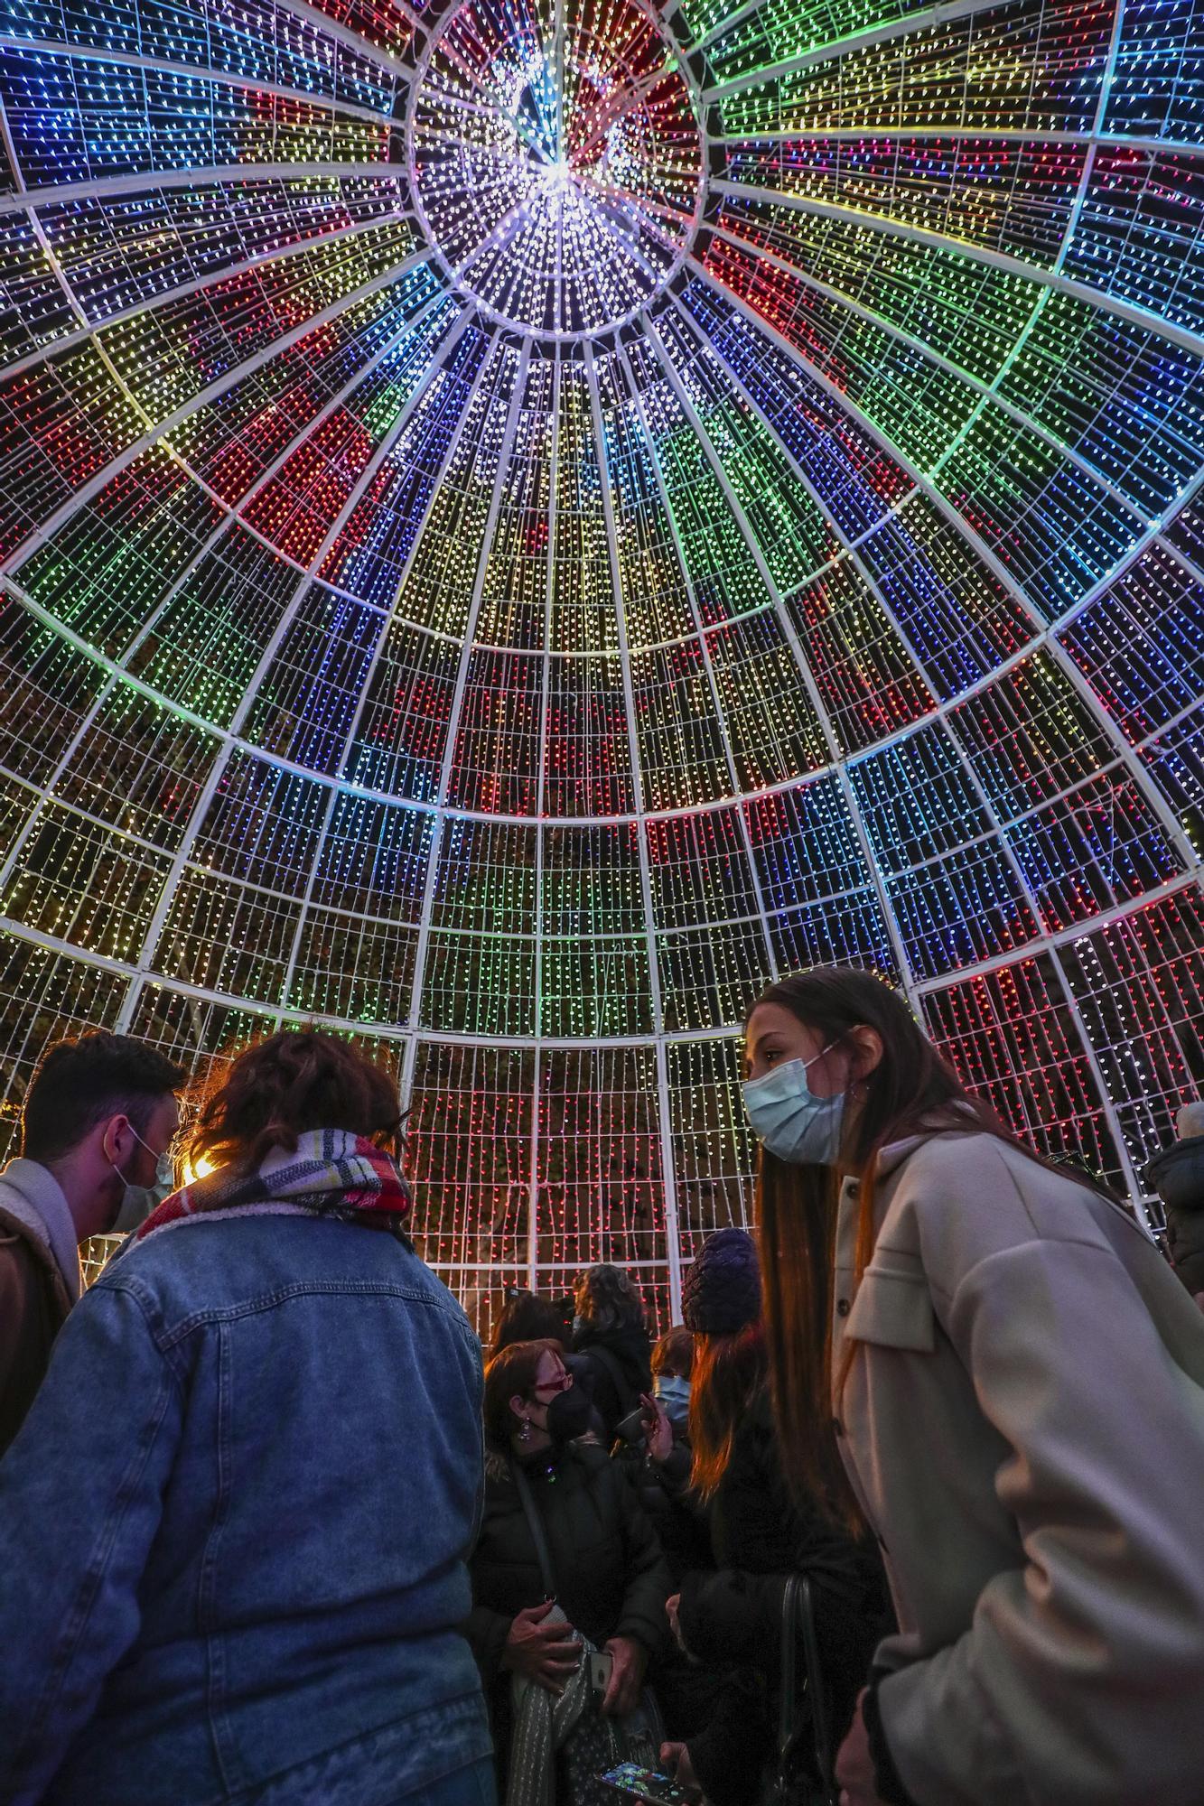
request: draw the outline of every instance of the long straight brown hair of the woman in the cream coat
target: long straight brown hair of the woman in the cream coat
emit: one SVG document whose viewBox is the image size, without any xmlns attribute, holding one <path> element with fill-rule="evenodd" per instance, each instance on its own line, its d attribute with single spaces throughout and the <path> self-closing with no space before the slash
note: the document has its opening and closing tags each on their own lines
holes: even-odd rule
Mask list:
<svg viewBox="0 0 1204 1806">
<path fill-rule="evenodd" d="M 1049 1165 L 994 1111 L 971 1098 L 911 1015 L 906 999 L 875 973 L 850 966 L 812 966 L 770 984 L 754 1010 L 759 1004 L 788 1010 L 824 1044 L 846 1044 L 850 1031 L 859 1026 L 873 1028 L 882 1040 L 882 1058 L 864 1080 L 862 1107 L 851 1122 L 846 1120 L 841 1147 L 841 1167 L 861 1174 L 859 1279 L 873 1253 L 875 1174 L 879 1154 L 888 1143 L 920 1132 L 980 1131 L 1018 1147 L 1036 1165 Z M 1094 1181 L 1081 1176 L 1081 1183 L 1090 1187 Z M 795 1165 L 761 1149 L 757 1221 L 765 1340 L 786 1476 L 795 1492 L 812 1494 L 835 1517 L 859 1528 L 861 1510 L 832 1429 L 837 1196 L 837 1167 Z M 846 1362 L 853 1349 L 850 1344 Z M 841 1382 L 846 1371 L 848 1367 L 837 1376 Z"/>
</svg>

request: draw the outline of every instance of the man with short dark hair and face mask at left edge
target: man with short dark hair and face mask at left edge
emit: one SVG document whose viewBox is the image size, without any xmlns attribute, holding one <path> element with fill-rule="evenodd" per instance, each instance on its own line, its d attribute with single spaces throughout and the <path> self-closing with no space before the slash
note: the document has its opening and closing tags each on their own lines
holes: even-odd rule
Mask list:
<svg viewBox="0 0 1204 1806">
<path fill-rule="evenodd" d="M 154 1188 L 186 1080 L 128 1035 L 60 1040 L 22 1111 L 22 1158 L 0 1172 L 0 1454 L 9 1447 L 80 1297 L 80 1243 L 114 1228 L 127 1190 Z M 163 1181 L 159 1181 L 163 1183 Z"/>
</svg>

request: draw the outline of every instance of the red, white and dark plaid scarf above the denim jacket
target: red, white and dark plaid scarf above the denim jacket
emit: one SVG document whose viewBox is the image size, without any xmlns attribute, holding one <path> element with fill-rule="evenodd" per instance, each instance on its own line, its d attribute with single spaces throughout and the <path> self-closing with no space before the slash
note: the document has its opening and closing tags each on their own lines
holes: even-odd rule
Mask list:
<svg viewBox="0 0 1204 1806">
<path fill-rule="evenodd" d="M 320 1215 L 353 1223 L 363 1215 L 381 1228 L 409 1215 L 410 1188 L 389 1154 L 349 1129 L 311 1129 L 296 1152 L 273 1147 L 257 1172 L 230 1167 L 206 1172 L 150 1212 L 127 1248 L 190 1217 Z"/>
</svg>

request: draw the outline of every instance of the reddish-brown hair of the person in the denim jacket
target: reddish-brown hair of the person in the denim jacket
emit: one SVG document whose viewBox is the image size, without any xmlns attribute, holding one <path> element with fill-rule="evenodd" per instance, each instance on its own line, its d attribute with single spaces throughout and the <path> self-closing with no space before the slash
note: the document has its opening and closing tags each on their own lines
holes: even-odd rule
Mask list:
<svg viewBox="0 0 1204 1806">
<path fill-rule="evenodd" d="M 389 1073 L 336 1035 L 284 1029 L 240 1053 L 204 1100 L 188 1161 L 253 1172 L 273 1147 L 295 1152 L 309 1129 L 349 1129 L 401 1158 L 401 1100 Z"/>
</svg>

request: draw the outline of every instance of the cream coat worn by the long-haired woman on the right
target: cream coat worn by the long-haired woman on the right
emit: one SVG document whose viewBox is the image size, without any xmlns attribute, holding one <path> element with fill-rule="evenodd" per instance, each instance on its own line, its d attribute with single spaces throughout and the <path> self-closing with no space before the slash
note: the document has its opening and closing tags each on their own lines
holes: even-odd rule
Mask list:
<svg viewBox="0 0 1204 1806">
<path fill-rule="evenodd" d="M 982 1132 L 886 1149 L 839 1447 L 918 1806 L 1202 1806 L 1204 1317 L 1115 1205 Z"/>
</svg>

